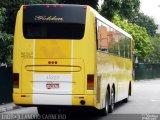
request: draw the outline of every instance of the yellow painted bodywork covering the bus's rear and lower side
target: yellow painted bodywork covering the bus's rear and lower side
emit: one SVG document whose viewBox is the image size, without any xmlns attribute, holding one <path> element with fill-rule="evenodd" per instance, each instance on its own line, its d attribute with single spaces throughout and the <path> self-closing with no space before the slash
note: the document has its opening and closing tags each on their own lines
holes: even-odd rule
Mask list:
<svg viewBox="0 0 160 120">
<path fill-rule="evenodd" d="M 84 97 L 85 106 L 102 109 L 108 85 L 110 88 L 115 85 L 116 102 L 128 92 L 129 81 L 132 80 L 132 61 L 97 52 L 96 16 L 89 6 L 85 34 L 81 40 L 25 39 L 22 15 L 21 7 L 17 14 L 13 55 L 13 72 L 20 74 L 20 88 L 14 88 L 14 103 L 33 104 L 34 73 L 72 74 L 72 105 L 81 106 L 82 99 L 79 97 Z M 49 64 L 49 61 L 56 61 L 57 64 Z M 94 90 L 87 90 L 88 74 L 94 75 Z"/>
</svg>

